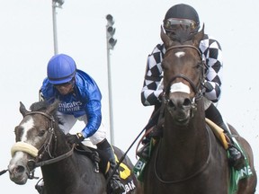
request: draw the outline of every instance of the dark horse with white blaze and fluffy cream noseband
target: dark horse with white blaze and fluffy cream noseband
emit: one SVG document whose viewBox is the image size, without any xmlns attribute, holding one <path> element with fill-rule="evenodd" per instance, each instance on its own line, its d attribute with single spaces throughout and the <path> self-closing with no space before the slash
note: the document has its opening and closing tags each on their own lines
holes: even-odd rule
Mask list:
<svg viewBox="0 0 259 194">
<path fill-rule="evenodd" d="M 33 103 L 29 111 L 21 102 L 23 119 L 15 128 L 16 143 L 8 165 L 10 179 L 16 184 L 25 184 L 40 166 L 45 194 L 107 193 L 103 173 L 94 172 L 96 163 L 67 144 L 55 117 L 57 108 L 57 101 L 50 105 L 40 101 Z M 113 147 L 120 159 L 123 152 Z M 119 170 L 125 193 L 137 193 L 137 180 L 131 172 L 133 164 L 129 157 L 126 156 L 121 164 Z"/>
</svg>

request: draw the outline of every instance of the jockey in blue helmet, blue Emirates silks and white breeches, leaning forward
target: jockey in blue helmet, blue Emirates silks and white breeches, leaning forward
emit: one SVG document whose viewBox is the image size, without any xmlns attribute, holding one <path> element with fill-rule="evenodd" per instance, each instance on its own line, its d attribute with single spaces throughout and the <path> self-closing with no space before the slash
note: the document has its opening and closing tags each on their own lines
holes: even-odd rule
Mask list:
<svg viewBox="0 0 259 194">
<path fill-rule="evenodd" d="M 102 94 L 94 79 L 84 71 L 76 68 L 72 57 L 58 54 L 51 57 L 47 69 L 48 77 L 40 88 L 40 101 L 52 102 L 58 99 L 59 128 L 66 134 L 70 144 L 81 143 L 85 138 L 101 150 L 104 157 L 111 163 L 107 177 L 116 166 L 112 146 L 106 139 L 106 130 L 102 123 Z M 70 135 L 70 129 L 77 120 L 85 122 L 85 128 L 76 135 Z M 116 170 L 110 181 L 112 193 L 121 194 L 125 191 Z"/>
</svg>

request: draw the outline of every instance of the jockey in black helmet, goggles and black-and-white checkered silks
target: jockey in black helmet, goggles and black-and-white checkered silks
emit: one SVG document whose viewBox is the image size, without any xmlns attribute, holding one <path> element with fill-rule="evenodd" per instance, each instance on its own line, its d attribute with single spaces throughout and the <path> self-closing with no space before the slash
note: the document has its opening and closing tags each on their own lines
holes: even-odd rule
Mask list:
<svg viewBox="0 0 259 194">
<path fill-rule="evenodd" d="M 195 33 L 200 29 L 199 15 L 195 9 L 188 4 L 176 4 L 172 6 L 167 13 L 165 13 L 165 19 L 163 27 L 165 33 L 172 39 L 174 37 L 174 30 L 182 25 L 186 28 L 192 28 Z M 221 94 L 222 84 L 222 50 L 219 42 L 208 34 L 204 34 L 203 39 L 200 42 L 200 50 L 202 58 L 204 60 L 205 68 L 205 82 L 203 88 L 204 109 L 206 118 L 212 120 L 220 128 L 224 130 L 224 133 L 229 139 L 230 145 L 229 162 L 234 168 L 240 170 L 245 163 L 244 155 L 238 150 L 233 143 L 233 137 L 229 134 L 229 128 L 227 123 L 224 122 L 219 110 L 214 105 L 219 101 Z M 159 43 L 153 49 L 152 53 L 147 57 L 147 67 L 144 79 L 143 88 L 141 91 L 141 101 L 144 106 L 155 106 L 155 110 L 161 106 L 162 93 L 163 93 L 163 69 L 161 62 L 165 55 L 164 43 Z M 157 125 L 157 117 L 149 120 L 146 130 L 153 128 Z M 145 137 L 142 141 L 143 146 L 138 150 L 138 156 L 142 158 L 148 157 L 149 153 L 149 141 L 150 137 Z"/>
</svg>

